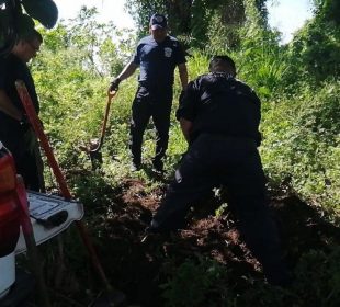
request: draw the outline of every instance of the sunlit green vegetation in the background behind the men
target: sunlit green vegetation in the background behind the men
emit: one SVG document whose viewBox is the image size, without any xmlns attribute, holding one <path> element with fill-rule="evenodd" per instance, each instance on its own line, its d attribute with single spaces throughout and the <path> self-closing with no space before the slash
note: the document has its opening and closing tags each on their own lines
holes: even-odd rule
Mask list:
<svg viewBox="0 0 340 307">
<path fill-rule="evenodd" d="M 231 54 L 237 62 L 239 78 L 251 84 L 263 102 L 264 138 L 261 152 L 271 182 L 288 184 L 305 200 L 336 214 L 340 203 L 340 107 L 337 79 L 340 57 L 325 57 L 325 60 L 331 60 L 329 67 L 335 69 L 327 69 L 327 76 L 326 70 L 319 71 L 324 73 L 320 77 L 313 73 L 309 66 L 309 57 L 318 59 L 318 54 L 314 56 L 314 53 L 318 53 L 315 46 L 302 47 L 305 55 L 309 54 L 308 57 L 296 54 L 301 52 L 296 49 L 297 45 L 307 44 L 306 37 L 311 35 L 309 30 L 313 29 L 313 33 L 315 29 L 321 31 L 326 18 L 317 15 L 291 45 L 280 46 L 277 33 L 261 26 L 261 15 L 251 5 L 251 1 L 246 2 L 246 12 L 248 19 L 245 26 L 239 29 L 242 39 L 236 48 L 220 44 L 219 37 L 223 37 L 225 26 L 218 24 L 218 21 L 212 24 L 208 33 L 211 44 L 204 49 L 191 50 L 190 78 L 206 71 L 209 55 Z M 135 44 L 134 37 L 123 36 L 112 24 L 98 24 L 94 15 L 95 10 L 83 10 L 72 24 L 59 24 L 48 31 L 42 56 L 33 64 L 43 102 L 45 128 L 66 169 L 89 164 L 88 157 L 79 152 L 79 145 L 99 137 L 110 78 L 121 70 Z M 335 42 L 329 45 L 330 53 L 335 53 L 335 44 L 339 45 L 339 36 L 336 36 L 338 32 L 339 27 L 335 24 L 328 33 L 329 39 Z M 327 48 L 325 45 L 321 45 L 322 48 Z M 335 64 L 336 60 L 338 62 Z M 135 87 L 135 78 L 124 81 L 112 104 L 103 148 L 105 170 L 115 172 L 117 167 L 121 169 L 128 163 L 129 106 Z M 177 87 L 175 98 L 178 93 Z M 150 137 L 152 130 L 147 134 L 144 147 L 147 160 L 154 150 L 154 143 L 148 141 Z M 169 173 L 179 155 L 185 151 L 185 146 L 173 118 L 167 161 Z M 123 164 L 116 166 L 111 159 L 113 155 Z M 117 173 L 122 174 L 122 171 Z M 126 174 L 127 170 L 123 173 Z"/>
</svg>

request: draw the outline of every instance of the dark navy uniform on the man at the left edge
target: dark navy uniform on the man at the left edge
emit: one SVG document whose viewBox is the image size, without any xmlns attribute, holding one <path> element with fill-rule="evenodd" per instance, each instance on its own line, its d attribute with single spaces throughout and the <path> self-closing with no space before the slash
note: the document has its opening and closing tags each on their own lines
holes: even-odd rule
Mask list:
<svg viewBox="0 0 340 307">
<path fill-rule="evenodd" d="M 3 90 L 11 102 L 23 114 L 24 107 L 18 95 L 15 81 L 24 81 L 32 98 L 35 111 L 39 112 L 39 104 L 35 91 L 34 81 L 26 64 L 15 55 L 0 58 L 0 89 Z M 25 183 L 31 190 L 39 190 L 39 175 L 36 167 L 36 138 L 32 128 L 12 118 L 0 111 L 0 140 L 11 151 L 14 157 L 16 171 L 22 174 Z"/>
</svg>

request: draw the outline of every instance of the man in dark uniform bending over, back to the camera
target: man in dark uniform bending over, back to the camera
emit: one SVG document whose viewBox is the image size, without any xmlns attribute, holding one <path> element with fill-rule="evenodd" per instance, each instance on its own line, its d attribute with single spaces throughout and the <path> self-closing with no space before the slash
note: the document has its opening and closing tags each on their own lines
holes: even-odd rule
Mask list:
<svg viewBox="0 0 340 307">
<path fill-rule="evenodd" d="M 213 187 L 226 186 L 239 230 L 261 262 L 268 282 L 286 285 L 290 278 L 270 216 L 257 149 L 261 140 L 260 100 L 235 79 L 235 62 L 228 56 L 215 56 L 209 71 L 190 82 L 180 99 L 177 117 L 189 149 L 148 230 L 181 228 L 191 204 Z"/>
</svg>

